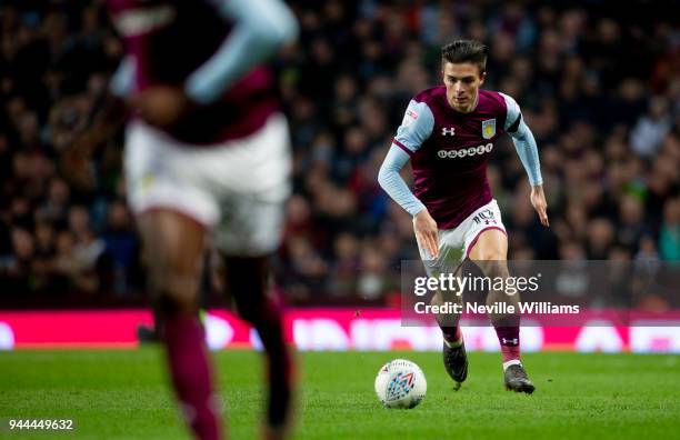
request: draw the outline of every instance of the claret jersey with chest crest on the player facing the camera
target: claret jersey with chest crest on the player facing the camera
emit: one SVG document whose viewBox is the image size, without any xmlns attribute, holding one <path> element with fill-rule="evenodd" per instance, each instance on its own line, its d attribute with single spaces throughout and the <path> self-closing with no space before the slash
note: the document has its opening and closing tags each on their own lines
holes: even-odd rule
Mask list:
<svg viewBox="0 0 680 440">
<path fill-rule="evenodd" d="M 409 104 L 394 143 L 411 157 L 413 193 L 440 229 L 456 228 L 491 201 L 487 163 L 506 128 L 519 122 L 519 108 L 508 118 L 509 101 L 517 106 L 502 93 L 480 90 L 477 108 L 461 113 L 440 86 Z"/>
</svg>

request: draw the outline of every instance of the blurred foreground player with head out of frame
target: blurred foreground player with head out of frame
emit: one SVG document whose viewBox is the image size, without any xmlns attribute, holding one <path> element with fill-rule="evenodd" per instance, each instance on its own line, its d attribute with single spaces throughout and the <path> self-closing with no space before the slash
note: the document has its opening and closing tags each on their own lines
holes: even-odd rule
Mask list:
<svg viewBox="0 0 680 440">
<path fill-rule="evenodd" d="M 109 0 L 127 56 L 112 90 L 131 103 L 124 169 L 163 320 L 170 377 L 187 423 L 222 438 L 198 316 L 204 240 L 226 259 L 227 286 L 268 360 L 266 438 L 286 434 L 292 363 L 267 257 L 279 246 L 290 149 L 270 69 L 296 38 L 280 0 Z"/>
</svg>

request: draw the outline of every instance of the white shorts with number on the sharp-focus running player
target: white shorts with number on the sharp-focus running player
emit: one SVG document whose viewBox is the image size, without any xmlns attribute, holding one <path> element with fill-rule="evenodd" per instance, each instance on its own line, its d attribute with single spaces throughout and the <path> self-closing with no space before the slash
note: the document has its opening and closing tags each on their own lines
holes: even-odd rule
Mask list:
<svg viewBox="0 0 680 440">
<path fill-rule="evenodd" d="M 472 212 L 457 228 L 439 230 L 438 258 L 432 258 L 430 252 L 418 243 L 420 258 L 426 262 L 428 273 L 432 274 L 430 272 L 438 271 L 437 268 L 441 269 L 444 266 L 448 268 L 457 266 L 470 254 L 479 236 L 489 229 L 498 229 L 507 234 L 496 199 Z"/>
</svg>

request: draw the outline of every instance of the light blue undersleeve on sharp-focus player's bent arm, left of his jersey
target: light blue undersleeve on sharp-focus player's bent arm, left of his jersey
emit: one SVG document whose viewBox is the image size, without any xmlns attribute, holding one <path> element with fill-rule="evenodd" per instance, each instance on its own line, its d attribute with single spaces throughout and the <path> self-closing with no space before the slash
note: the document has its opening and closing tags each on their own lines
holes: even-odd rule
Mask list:
<svg viewBox="0 0 680 440">
<path fill-rule="evenodd" d="M 380 171 L 378 172 L 378 182 L 401 208 L 411 216 L 416 216 L 426 207 L 409 189 L 399 172 L 409 161 L 410 156 L 399 146 L 392 143 L 388 151 Z"/>
</svg>

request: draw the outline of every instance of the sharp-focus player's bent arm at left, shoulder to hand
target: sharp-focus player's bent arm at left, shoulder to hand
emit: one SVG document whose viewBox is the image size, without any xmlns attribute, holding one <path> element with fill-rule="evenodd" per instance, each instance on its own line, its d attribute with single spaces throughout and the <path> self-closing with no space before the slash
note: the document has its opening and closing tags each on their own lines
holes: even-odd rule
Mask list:
<svg viewBox="0 0 680 440">
<path fill-rule="evenodd" d="M 400 176 L 401 169 L 432 133 L 434 117 L 424 102 L 411 101 L 392 146 L 378 172 L 382 189 L 413 216 L 413 230 L 432 257 L 439 253 L 437 222 Z"/>
</svg>

